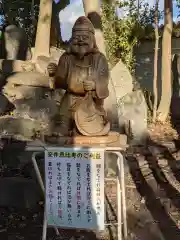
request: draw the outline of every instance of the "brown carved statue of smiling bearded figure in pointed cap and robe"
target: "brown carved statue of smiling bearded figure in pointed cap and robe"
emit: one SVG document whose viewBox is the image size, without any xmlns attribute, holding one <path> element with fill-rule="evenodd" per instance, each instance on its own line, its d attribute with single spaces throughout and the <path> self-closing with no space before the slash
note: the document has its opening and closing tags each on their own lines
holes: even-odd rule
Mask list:
<svg viewBox="0 0 180 240">
<path fill-rule="evenodd" d="M 108 62 L 97 48 L 94 27 L 88 18 L 77 19 L 69 49 L 58 65 L 50 63 L 47 70 L 54 89 L 66 90 L 55 132 L 60 136 L 107 135 L 110 123 L 103 104 L 109 95 Z"/>
</svg>

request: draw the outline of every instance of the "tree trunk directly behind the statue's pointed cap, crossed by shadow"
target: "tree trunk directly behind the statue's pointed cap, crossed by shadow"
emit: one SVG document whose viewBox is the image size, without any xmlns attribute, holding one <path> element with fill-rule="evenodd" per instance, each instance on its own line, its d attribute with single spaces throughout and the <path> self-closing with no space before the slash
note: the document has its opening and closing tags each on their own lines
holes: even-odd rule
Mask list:
<svg viewBox="0 0 180 240">
<path fill-rule="evenodd" d="M 106 55 L 99 0 L 83 0 L 83 6 L 85 15 L 91 20 L 92 24 L 94 25 L 97 46 L 100 52 Z"/>
</svg>

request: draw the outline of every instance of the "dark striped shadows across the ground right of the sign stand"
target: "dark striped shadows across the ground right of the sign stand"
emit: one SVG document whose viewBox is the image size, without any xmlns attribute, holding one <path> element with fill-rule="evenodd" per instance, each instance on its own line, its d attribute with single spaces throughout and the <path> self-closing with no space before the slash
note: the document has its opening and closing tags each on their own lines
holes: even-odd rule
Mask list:
<svg viewBox="0 0 180 240">
<path fill-rule="evenodd" d="M 171 204 L 176 208 L 177 212 L 179 212 L 180 193 L 167 179 L 159 165 L 159 159 L 156 157 L 156 154 L 152 153 L 150 146 L 164 149 L 163 157 L 167 160 L 172 173 L 179 181 L 180 171 L 175 167 L 176 160 L 166 147 L 149 141 L 144 157 L 153 176 L 153 181 L 155 184 L 157 184 L 158 189 L 163 192 L 164 197 L 169 199 Z M 150 212 L 154 222 L 158 225 L 163 239 L 178 240 L 180 236 L 180 229 L 178 228 L 175 220 L 172 218 L 170 211 L 168 211 L 164 204 L 162 204 L 161 197 L 157 197 L 156 190 L 153 188 L 152 184 L 148 184 L 146 178 L 142 174 L 138 159 L 135 157 L 135 155 L 131 155 L 127 157 L 127 162 L 136 189 L 140 196 L 144 199 L 144 204 L 147 210 Z M 153 237 L 151 236 L 151 239 L 160 238 L 157 238 L 157 236 L 154 235 Z"/>
</svg>

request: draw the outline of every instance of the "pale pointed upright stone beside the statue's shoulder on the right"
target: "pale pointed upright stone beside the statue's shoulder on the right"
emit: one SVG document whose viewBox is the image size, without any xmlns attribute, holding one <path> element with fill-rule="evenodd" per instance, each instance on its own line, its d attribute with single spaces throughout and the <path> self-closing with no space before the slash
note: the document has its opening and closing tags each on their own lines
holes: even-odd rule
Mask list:
<svg viewBox="0 0 180 240">
<path fill-rule="evenodd" d="M 117 100 L 132 92 L 133 77 L 121 60 L 111 70 L 111 78 L 115 87 Z"/>
</svg>

